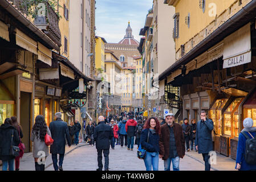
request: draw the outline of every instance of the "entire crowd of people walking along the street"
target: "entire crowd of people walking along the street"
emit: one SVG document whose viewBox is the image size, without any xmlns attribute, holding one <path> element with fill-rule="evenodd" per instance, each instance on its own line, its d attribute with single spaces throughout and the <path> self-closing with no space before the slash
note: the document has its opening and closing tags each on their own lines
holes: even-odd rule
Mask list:
<svg viewBox="0 0 256 182">
<path fill-rule="evenodd" d="M 139 113 L 124 112 L 121 115 L 110 115 L 105 118 L 100 116 L 98 124 L 90 121 L 84 126 L 88 143 L 95 145 L 97 149 L 97 171 L 103 170 L 102 153 L 105 163 L 104 170 L 109 169 L 109 149 L 115 150 L 115 146 L 126 147 L 128 151 L 133 151 L 134 144 L 137 144 L 138 158 L 144 160 L 147 171 L 159 169 L 159 159 L 164 160 L 164 170 L 170 171 L 172 163 L 173 170 L 180 170 L 180 159 L 185 156 L 185 151 L 190 151 L 195 147 L 198 154 L 202 154 L 205 162 L 205 170 L 210 170 L 209 152 L 213 151 L 212 132 L 214 125 L 212 119 L 207 118 L 205 111 L 200 113 L 200 121 L 192 119 L 191 125 L 188 119 L 184 118 L 183 123 L 176 123 L 174 114 L 169 113 L 160 120 L 156 117 L 143 118 Z M 35 118 L 31 131 L 31 141 L 33 142 L 32 156 L 35 162 L 36 171 L 44 171 L 47 156 L 51 154 L 55 171 L 63 171 L 63 159 L 66 143 L 78 144 L 78 135 L 81 125 L 78 121 L 71 122 L 70 126 L 62 121 L 62 114 L 55 113 L 54 121 L 48 127 L 43 115 Z M 53 139 L 50 144 L 45 138 L 49 136 Z M 246 118 L 243 121 L 243 130 L 239 134 L 237 159 L 235 168 L 238 170 L 256 170 L 255 137 L 256 128 L 253 127 L 253 119 Z M 16 117 L 6 118 L 0 126 L 0 160 L 2 160 L 2 170 L 19 171 L 19 159 L 22 158 L 25 145 L 22 143 L 22 127 Z M 189 144 L 190 142 L 190 144 Z M 253 147 L 251 147 L 253 146 Z M 15 154 L 19 148 L 19 152 Z M 186 149 L 185 149 L 186 148 Z M 143 149 L 144 156 L 139 156 Z M 43 152 L 43 157 L 42 157 Z M 59 154 L 59 165 L 58 155 Z M 254 156 L 254 157 L 253 157 Z"/>
</svg>

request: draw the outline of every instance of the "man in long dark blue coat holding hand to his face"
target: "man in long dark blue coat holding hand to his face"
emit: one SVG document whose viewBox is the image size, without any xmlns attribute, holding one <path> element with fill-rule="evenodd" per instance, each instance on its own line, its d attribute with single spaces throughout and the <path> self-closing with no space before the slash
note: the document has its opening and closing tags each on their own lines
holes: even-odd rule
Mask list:
<svg viewBox="0 0 256 182">
<path fill-rule="evenodd" d="M 198 154 L 202 154 L 205 162 L 205 171 L 210 171 L 209 164 L 209 152 L 213 150 L 212 130 L 213 121 L 206 118 L 206 112 L 204 110 L 200 113 L 201 120 L 197 122 L 196 133 L 196 150 Z"/>
</svg>

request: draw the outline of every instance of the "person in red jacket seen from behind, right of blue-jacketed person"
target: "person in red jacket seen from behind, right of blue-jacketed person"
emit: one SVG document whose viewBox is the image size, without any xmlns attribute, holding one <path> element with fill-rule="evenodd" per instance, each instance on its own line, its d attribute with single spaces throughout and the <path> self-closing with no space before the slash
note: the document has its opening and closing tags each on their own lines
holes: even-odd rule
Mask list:
<svg viewBox="0 0 256 182">
<path fill-rule="evenodd" d="M 133 150 L 134 137 L 135 137 L 136 125 L 137 125 L 137 122 L 133 118 L 134 118 L 134 115 L 130 114 L 129 120 L 125 125 L 125 130 L 127 132 L 127 150 Z"/>
</svg>

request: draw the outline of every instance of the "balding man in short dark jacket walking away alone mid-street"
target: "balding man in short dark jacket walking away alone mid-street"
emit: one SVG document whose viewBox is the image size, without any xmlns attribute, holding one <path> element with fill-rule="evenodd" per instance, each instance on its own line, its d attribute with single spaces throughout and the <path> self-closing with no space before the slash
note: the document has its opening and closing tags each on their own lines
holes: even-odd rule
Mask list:
<svg viewBox="0 0 256 182">
<path fill-rule="evenodd" d="M 102 171 L 103 164 L 102 164 L 102 151 L 105 158 L 104 169 L 108 171 L 108 164 L 109 164 L 109 148 L 110 142 L 109 140 L 114 136 L 113 130 L 111 126 L 105 124 L 105 119 L 102 115 L 98 118 L 99 125 L 97 125 L 94 129 L 94 139 L 96 140 L 96 148 L 97 148 L 97 162 L 98 167 L 97 171 Z"/>
</svg>

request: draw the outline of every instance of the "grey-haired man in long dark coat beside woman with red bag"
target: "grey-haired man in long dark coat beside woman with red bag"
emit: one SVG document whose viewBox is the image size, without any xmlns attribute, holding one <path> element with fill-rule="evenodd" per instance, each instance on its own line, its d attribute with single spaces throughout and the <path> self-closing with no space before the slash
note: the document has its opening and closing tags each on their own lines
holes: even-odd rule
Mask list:
<svg viewBox="0 0 256 182">
<path fill-rule="evenodd" d="M 49 126 L 51 138 L 54 139 L 54 143 L 50 147 L 50 153 L 54 170 L 58 171 L 59 169 L 60 171 L 63 171 L 62 164 L 65 154 L 65 138 L 67 139 L 68 147 L 71 146 L 71 140 L 67 123 L 62 121 L 62 113 L 55 113 L 54 119 L 55 121 L 51 122 Z M 59 154 L 59 167 L 57 165 L 57 154 Z"/>
</svg>

